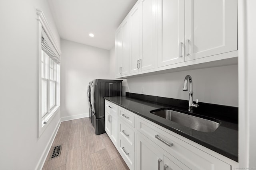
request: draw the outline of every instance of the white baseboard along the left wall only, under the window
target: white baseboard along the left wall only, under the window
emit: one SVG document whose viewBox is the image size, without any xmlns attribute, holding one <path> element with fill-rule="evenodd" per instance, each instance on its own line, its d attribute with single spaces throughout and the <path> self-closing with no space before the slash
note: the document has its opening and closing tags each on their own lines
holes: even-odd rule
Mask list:
<svg viewBox="0 0 256 170">
<path fill-rule="evenodd" d="M 48 153 L 49 153 L 49 151 L 50 151 L 50 149 L 51 149 L 52 143 L 53 143 L 53 141 L 54 141 L 54 139 L 55 139 L 55 137 L 56 137 L 56 134 L 57 134 L 57 132 L 58 132 L 58 130 L 59 130 L 60 123 L 61 123 L 61 122 L 60 122 L 60 120 L 59 120 L 59 122 L 58 122 L 58 124 L 56 125 L 56 127 L 55 127 L 55 129 L 54 129 L 54 132 L 52 133 L 52 136 L 51 136 L 49 142 L 47 143 L 47 145 L 46 145 L 46 147 L 45 147 L 45 149 L 44 149 L 44 152 L 43 152 L 43 154 L 42 154 L 42 156 L 41 156 L 41 158 L 40 158 L 40 160 L 39 160 L 39 162 L 38 162 L 38 164 L 37 164 L 37 166 L 36 166 L 36 170 L 42 170 L 42 169 L 43 169 L 44 162 L 45 162 L 45 160 L 46 160 L 46 158 L 47 158 L 47 155 L 48 155 Z"/>
</svg>

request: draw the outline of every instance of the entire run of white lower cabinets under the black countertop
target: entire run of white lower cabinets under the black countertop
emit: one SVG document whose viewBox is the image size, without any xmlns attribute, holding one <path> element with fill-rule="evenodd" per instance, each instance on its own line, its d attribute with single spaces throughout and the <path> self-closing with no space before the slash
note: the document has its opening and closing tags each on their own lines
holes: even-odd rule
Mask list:
<svg viewBox="0 0 256 170">
<path fill-rule="evenodd" d="M 131 170 L 238 167 L 237 162 L 108 101 L 105 101 L 105 131 Z"/>
</svg>

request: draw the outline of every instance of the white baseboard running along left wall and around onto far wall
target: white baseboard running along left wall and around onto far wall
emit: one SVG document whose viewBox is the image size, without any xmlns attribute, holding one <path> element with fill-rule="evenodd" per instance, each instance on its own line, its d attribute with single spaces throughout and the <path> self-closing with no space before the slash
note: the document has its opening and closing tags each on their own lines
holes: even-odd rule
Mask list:
<svg viewBox="0 0 256 170">
<path fill-rule="evenodd" d="M 36 166 L 36 170 L 42 170 L 43 166 L 44 166 L 44 162 L 47 158 L 47 155 L 51 149 L 51 146 L 52 146 L 52 143 L 56 137 L 56 134 L 59 130 L 59 127 L 60 127 L 60 123 L 62 121 L 68 121 L 68 120 L 74 120 L 74 119 L 80 119 L 80 118 L 84 118 L 84 117 L 89 117 L 89 113 L 84 113 L 84 114 L 80 114 L 80 115 L 72 115 L 72 116 L 68 116 L 68 117 L 61 117 L 58 124 L 56 125 L 55 129 L 54 129 L 54 132 L 52 133 L 52 136 L 49 140 L 49 142 L 47 143 L 46 145 L 46 148 L 44 149 L 44 152 Z"/>
</svg>

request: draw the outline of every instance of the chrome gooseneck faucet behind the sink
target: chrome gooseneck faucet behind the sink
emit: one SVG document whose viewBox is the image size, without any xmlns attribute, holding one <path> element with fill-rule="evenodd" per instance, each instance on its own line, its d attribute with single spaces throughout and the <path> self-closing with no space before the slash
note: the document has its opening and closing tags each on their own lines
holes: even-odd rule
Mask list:
<svg viewBox="0 0 256 170">
<path fill-rule="evenodd" d="M 198 104 L 194 104 L 193 102 L 193 90 L 192 90 L 192 77 L 187 75 L 184 80 L 183 91 L 188 91 L 188 81 L 189 81 L 189 103 L 188 103 L 188 111 L 193 111 L 193 107 L 198 107 Z M 196 103 L 198 100 L 196 99 Z"/>
</svg>

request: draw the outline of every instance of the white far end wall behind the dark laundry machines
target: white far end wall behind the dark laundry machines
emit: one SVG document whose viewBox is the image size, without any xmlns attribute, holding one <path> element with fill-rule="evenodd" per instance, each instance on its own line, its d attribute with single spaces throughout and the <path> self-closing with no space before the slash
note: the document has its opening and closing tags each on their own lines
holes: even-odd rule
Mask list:
<svg viewBox="0 0 256 170">
<path fill-rule="evenodd" d="M 109 79 L 109 51 L 61 39 L 61 117 L 89 113 L 87 86 L 94 79 Z"/>
</svg>

